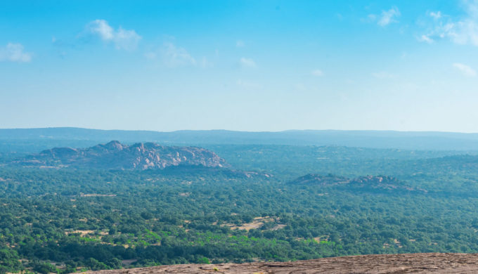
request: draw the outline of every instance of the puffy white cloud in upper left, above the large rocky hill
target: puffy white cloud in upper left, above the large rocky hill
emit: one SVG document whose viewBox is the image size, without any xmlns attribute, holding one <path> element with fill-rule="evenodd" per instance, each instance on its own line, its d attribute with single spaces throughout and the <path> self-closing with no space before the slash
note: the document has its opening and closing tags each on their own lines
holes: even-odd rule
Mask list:
<svg viewBox="0 0 478 274">
<path fill-rule="evenodd" d="M 112 42 L 117 49 L 134 50 L 141 40 L 141 36 L 134 30 L 124 30 L 119 27 L 113 29 L 103 19 L 93 20 L 86 25 L 86 31 L 100 37 L 105 42 Z"/>
</svg>

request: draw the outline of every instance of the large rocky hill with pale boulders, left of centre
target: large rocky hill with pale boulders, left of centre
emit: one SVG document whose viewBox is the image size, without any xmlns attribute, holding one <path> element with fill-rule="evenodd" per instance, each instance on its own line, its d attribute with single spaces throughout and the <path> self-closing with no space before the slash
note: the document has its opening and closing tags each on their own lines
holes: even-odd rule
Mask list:
<svg viewBox="0 0 478 274">
<path fill-rule="evenodd" d="M 19 162 L 22 165 L 105 169 L 164 169 L 172 166 L 226 167 L 226 161 L 204 148 L 157 143 L 124 145 L 118 141 L 91 148 L 52 148 Z"/>
</svg>

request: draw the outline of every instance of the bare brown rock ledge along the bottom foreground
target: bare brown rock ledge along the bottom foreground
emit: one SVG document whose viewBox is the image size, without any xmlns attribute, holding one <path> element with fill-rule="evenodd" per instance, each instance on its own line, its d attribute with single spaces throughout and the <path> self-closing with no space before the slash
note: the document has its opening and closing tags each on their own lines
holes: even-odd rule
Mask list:
<svg viewBox="0 0 478 274">
<path fill-rule="evenodd" d="M 478 254 L 363 255 L 274 263 L 185 264 L 90 273 L 478 273 Z"/>
</svg>

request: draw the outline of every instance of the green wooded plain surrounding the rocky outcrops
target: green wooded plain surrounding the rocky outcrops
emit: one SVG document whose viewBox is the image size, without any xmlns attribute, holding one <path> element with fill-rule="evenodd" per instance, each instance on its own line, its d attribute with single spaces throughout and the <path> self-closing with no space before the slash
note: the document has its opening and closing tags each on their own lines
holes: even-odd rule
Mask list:
<svg viewBox="0 0 478 274">
<path fill-rule="evenodd" d="M 478 252 L 476 152 L 207 148 L 232 169 L 0 165 L 0 273 Z M 292 183 L 309 173 L 387 175 L 413 190 Z"/>
</svg>

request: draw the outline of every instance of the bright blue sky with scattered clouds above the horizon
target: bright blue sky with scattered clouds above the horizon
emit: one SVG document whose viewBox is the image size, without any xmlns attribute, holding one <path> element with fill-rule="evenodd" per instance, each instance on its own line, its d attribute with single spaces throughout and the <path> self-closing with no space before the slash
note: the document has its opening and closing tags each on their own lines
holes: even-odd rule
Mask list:
<svg viewBox="0 0 478 274">
<path fill-rule="evenodd" d="M 478 132 L 478 0 L 0 1 L 0 128 Z"/>
</svg>

